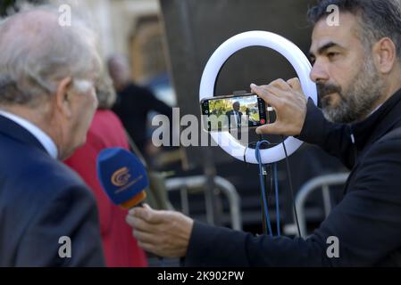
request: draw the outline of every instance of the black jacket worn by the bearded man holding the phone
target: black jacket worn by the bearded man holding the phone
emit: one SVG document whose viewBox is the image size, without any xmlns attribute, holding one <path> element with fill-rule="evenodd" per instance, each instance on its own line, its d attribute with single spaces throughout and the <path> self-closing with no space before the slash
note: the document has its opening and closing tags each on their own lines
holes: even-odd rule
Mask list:
<svg viewBox="0 0 401 285">
<path fill-rule="evenodd" d="M 307 239 L 270 238 L 195 222 L 188 266 L 401 265 L 401 90 L 369 118 L 335 125 L 308 102 L 300 139 L 352 169 L 344 197 Z M 305 161 L 307 164 L 307 161 Z M 328 237 L 339 241 L 329 258 Z"/>
</svg>

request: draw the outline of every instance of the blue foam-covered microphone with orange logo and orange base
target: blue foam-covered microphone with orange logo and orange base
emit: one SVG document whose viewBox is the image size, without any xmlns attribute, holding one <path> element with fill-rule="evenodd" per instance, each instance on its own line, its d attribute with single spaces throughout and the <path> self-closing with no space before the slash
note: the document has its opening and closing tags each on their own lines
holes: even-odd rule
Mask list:
<svg viewBox="0 0 401 285">
<path fill-rule="evenodd" d="M 129 209 L 146 199 L 146 170 L 131 152 L 107 148 L 100 151 L 96 163 L 97 177 L 113 204 Z"/>
</svg>

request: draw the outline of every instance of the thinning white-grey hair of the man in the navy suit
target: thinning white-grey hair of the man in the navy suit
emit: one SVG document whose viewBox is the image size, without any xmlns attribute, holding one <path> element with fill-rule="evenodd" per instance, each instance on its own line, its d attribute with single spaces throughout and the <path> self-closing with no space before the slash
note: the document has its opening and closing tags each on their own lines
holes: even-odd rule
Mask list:
<svg viewBox="0 0 401 285">
<path fill-rule="evenodd" d="M 36 107 L 63 78 L 71 77 L 78 89 L 76 83 L 97 76 L 101 61 L 95 34 L 75 15 L 66 27 L 59 17 L 54 7 L 44 5 L 0 21 L 0 104 Z"/>
</svg>

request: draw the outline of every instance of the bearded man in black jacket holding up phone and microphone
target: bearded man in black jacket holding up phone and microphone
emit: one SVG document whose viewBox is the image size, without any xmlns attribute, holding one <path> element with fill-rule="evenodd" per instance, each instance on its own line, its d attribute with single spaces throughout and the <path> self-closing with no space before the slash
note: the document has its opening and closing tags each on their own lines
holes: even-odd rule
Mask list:
<svg viewBox="0 0 401 285">
<path fill-rule="evenodd" d="M 339 8 L 339 26 L 327 7 Z M 297 79 L 251 85 L 277 120 L 259 134 L 298 135 L 352 169 L 344 197 L 307 239 L 271 238 L 194 222 L 174 212 L 133 209 L 143 248 L 186 256 L 186 265 L 401 265 L 401 11 L 396 0 L 322 0 L 313 21 L 310 77 L 322 111 Z M 305 161 L 307 163 L 307 161 Z M 327 254 L 330 237 L 339 255 Z"/>
</svg>

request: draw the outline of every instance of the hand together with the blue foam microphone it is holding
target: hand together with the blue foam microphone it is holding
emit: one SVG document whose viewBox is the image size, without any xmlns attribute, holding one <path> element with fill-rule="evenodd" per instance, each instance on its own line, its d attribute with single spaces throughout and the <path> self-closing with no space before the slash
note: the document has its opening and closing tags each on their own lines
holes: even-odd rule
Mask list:
<svg viewBox="0 0 401 285">
<path fill-rule="evenodd" d="M 97 157 L 97 175 L 107 196 L 115 205 L 130 208 L 127 223 L 134 228 L 138 245 L 157 256 L 187 254 L 193 220 L 179 212 L 136 207 L 146 199 L 149 185 L 146 169 L 129 151 L 110 148 Z"/>
</svg>

